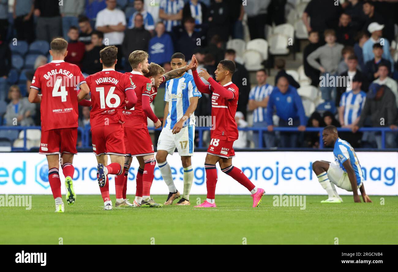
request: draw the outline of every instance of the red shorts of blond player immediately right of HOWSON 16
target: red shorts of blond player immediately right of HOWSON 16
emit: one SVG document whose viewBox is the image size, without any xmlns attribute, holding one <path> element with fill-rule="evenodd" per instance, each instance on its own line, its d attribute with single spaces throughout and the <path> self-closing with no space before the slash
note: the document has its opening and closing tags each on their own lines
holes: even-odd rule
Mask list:
<svg viewBox="0 0 398 272">
<path fill-rule="evenodd" d="M 155 154 L 152 139 L 147 128 L 125 127 L 126 156 L 146 156 Z"/>
</svg>

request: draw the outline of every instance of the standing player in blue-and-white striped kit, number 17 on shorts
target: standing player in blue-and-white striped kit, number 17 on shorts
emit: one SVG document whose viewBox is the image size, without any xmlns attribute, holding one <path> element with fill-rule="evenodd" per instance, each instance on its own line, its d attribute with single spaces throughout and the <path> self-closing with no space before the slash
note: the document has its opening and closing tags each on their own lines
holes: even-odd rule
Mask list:
<svg viewBox="0 0 398 272">
<path fill-rule="evenodd" d="M 185 56 L 182 53 L 172 55 L 170 65 L 173 70 L 186 64 Z M 160 173 L 169 187 L 169 195 L 164 205 L 172 205 L 174 199 L 180 196 L 174 185 L 170 165 L 166 161 L 167 155 L 173 155 L 176 148 L 179 156 L 181 156 L 184 171 L 183 195 L 176 205 L 190 205 L 189 192 L 193 183 L 191 156 L 193 155 L 195 137 L 194 111 L 201 96 L 195 81 L 193 81 L 193 76 L 188 73 L 183 73 L 181 77 L 166 82 L 163 128 L 160 132 L 158 151 L 156 152 L 156 161 Z"/>
</svg>

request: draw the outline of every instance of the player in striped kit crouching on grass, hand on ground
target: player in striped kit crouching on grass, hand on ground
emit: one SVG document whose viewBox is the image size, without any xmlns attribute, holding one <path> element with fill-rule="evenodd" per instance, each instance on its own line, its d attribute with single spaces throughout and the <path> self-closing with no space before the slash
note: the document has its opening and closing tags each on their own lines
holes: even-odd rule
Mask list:
<svg viewBox="0 0 398 272">
<path fill-rule="evenodd" d="M 328 192 L 329 198 L 321 203 L 341 203 L 336 187 L 353 192 L 354 202 L 361 202 L 358 188 L 364 202 L 372 202 L 365 193 L 363 185 L 363 172 L 357 154 L 352 146 L 339 138 L 335 126 L 326 126 L 322 132 L 325 146 L 333 147 L 334 162 L 316 161 L 312 170 L 316 173 L 319 183 Z M 332 182 L 330 182 L 332 181 Z"/>
</svg>

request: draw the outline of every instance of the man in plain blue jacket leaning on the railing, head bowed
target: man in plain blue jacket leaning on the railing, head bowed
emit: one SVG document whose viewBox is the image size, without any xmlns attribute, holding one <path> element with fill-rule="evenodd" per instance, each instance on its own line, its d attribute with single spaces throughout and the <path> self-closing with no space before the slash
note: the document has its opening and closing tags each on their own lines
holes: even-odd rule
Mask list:
<svg viewBox="0 0 398 272">
<path fill-rule="evenodd" d="M 286 77 L 280 77 L 277 86 L 273 89 L 269 96 L 267 105 L 267 129 L 273 131 L 272 114 L 276 110 L 279 116 L 279 126 L 281 127 L 297 127 L 298 131 L 304 131 L 306 125 L 306 116 L 302 101 L 297 93 L 297 89 L 289 85 Z M 282 148 L 297 147 L 298 133 L 281 132 L 280 146 Z"/>
</svg>

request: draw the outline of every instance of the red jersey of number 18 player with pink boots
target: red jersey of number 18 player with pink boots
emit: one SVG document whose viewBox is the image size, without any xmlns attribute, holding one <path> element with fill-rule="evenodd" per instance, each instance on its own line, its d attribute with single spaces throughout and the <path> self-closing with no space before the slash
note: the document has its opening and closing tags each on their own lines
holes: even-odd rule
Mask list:
<svg viewBox="0 0 398 272">
<path fill-rule="evenodd" d="M 238 139 L 238 126 L 235 122 L 236 108 L 238 107 L 239 89 L 232 82 L 225 84 L 225 89 L 234 93 L 234 98 L 224 99 L 220 97 L 209 85 L 211 95 L 211 115 L 214 116 L 211 138 L 234 141 Z"/>
</svg>

